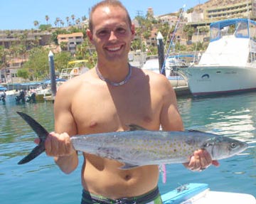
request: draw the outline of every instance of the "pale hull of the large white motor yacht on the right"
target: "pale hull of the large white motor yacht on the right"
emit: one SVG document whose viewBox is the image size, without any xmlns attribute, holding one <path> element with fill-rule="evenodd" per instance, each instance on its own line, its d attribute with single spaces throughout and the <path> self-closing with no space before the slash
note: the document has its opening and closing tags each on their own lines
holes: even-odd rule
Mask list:
<svg viewBox="0 0 256 204">
<path fill-rule="evenodd" d="M 256 67 L 203 66 L 186 69 L 193 96 L 256 90 Z"/>
</svg>

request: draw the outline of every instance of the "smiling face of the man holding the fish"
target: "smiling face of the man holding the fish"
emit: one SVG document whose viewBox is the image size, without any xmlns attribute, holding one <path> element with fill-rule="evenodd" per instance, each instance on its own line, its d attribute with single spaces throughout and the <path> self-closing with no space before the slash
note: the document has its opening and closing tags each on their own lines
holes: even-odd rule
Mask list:
<svg viewBox="0 0 256 204">
<path fill-rule="evenodd" d="M 92 25 L 87 36 L 95 45 L 98 59 L 127 60 L 134 26 L 129 26 L 125 11 L 117 6 L 100 7 L 92 14 Z"/>
</svg>

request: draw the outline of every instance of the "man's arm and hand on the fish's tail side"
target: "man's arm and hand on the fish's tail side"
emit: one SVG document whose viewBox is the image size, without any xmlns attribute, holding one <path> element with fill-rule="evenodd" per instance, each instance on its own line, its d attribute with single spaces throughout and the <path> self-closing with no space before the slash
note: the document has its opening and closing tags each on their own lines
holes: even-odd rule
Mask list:
<svg viewBox="0 0 256 204">
<path fill-rule="evenodd" d="M 55 97 L 55 132 L 46 139 L 46 154 L 55 157 L 55 163 L 64 173 L 71 173 L 78 166 L 78 154 L 70 141 L 70 136 L 77 134 L 77 127 L 71 113 L 72 93 L 69 95 L 67 88 L 62 86 Z"/>
</svg>

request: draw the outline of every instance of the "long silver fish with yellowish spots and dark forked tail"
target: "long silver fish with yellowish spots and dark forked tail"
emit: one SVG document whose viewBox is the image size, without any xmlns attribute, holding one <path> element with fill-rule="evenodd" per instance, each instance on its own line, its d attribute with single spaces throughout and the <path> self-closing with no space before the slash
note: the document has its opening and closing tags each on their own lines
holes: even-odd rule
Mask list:
<svg viewBox="0 0 256 204">
<path fill-rule="evenodd" d="M 41 139 L 28 156 L 18 164 L 27 163 L 45 151 L 48 131 L 27 114 L 19 115 L 36 131 Z M 137 125 L 129 125 L 129 131 L 86 134 L 71 137 L 75 150 L 117 160 L 121 169 L 161 163 L 186 163 L 193 152 L 206 149 L 213 160 L 239 154 L 247 144 L 226 136 L 202 131 L 149 131 Z"/>
</svg>

